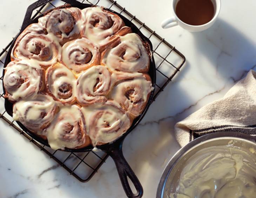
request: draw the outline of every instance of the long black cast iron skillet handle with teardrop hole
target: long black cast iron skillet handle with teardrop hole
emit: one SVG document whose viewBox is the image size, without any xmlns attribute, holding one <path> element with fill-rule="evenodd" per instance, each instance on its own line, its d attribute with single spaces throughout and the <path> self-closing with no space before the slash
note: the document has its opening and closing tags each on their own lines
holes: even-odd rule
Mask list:
<svg viewBox="0 0 256 198">
<path fill-rule="evenodd" d="M 133 172 L 132 168 L 127 163 L 126 159 L 123 156 L 122 151 L 122 142 L 118 145 L 118 147 L 112 147 L 111 150 L 107 151 L 107 153 L 112 157 L 115 162 L 117 172 L 119 174 L 123 189 L 129 198 L 141 198 L 143 195 L 143 188 L 142 185 Z M 132 181 L 133 185 L 135 186 L 136 193 L 133 193 L 130 185 L 128 183 L 128 179 Z"/>
</svg>

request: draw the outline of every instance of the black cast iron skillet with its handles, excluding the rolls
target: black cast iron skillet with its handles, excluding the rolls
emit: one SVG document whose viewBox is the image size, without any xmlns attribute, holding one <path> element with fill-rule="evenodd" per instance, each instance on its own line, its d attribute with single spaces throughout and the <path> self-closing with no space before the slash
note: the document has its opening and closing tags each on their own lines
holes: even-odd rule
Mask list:
<svg viewBox="0 0 256 198">
<path fill-rule="evenodd" d="M 31 20 L 31 15 L 33 10 L 35 10 L 36 8 L 46 4 L 47 2 L 49 2 L 51 0 L 38 0 L 34 3 L 32 3 L 28 8 L 27 8 L 27 12 L 25 15 L 25 18 L 23 20 L 22 23 L 22 27 L 20 30 L 20 33 L 31 23 L 36 23 L 38 22 L 38 18 L 41 17 L 42 15 L 36 17 L 34 20 Z M 70 4 L 72 7 L 78 7 L 80 9 L 83 8 L 87 8 L 87 7 L 92 7 L 92 5 L 89 4 L 84 4 L 84 3 L 80 3 L 76 0 L 62 0 L 68 4 Z M 141 31 L 132 23 L 130 22 L 128 19 L 126 19 L 124 16 L 120 15 L 119 13 L 116 13 L 113 10 L 110 10 L 111 12 L 119 15 L 122 20 L 124 21 L 124 23 L 126 24 L 126 26 L 132 28 L 132 31 L 136 34 L 138 34 L 143 41 L 148 42 L 150 45 L 150 50 L 152 51 L 152 44 L 150 42 L 150 40 L 144 36 Z M 20 34 L 19 33 L 19 34 Z M 18 36 L 16 36 L 17 38 Z M 11 49 L 13 48 L 14 42 L 16 40 L 16 38 L 14 39 L 10 50 L 8 51 L 6 60 L 5 60 L 5 65 L 4 67 L 6 67 L 6 65 L 11 61 L 10 55 L 11 55 Z M 155 82 L 156 82 L 156 69 L 155 69 L 155 62 L 154 62 L 154 57 L 152 55 L 151 59 L 150 59 L 150 68 L 149 68 L 149 72 L 148 72 L 149 76 L 151 77 L 152 80 L 152 86 L 155 87 Z M 3 71 L 3 75 L 4 75 L 4 71 Z M 4 85 L 3 85 L 4 86 Z M 5 90 L 5 89 L 4 89 Z M 4 91 L 5 92 L 5 91 Z M 107 154 L 109 154 L 116 165 L 116 169 L 117 172 L 119 174 L 119 177 L 121 179 L 121 183 L 123 186 L 123 189 L 127 195 L 127 197 L 131 197 L 131 198 L 139 198 L 142 197 L 143 195 L 143 188 L 140 184 L 140 181 L 138 180 L 138 178 L 136 177 L 136 175 L 134 174 L 133 170 L 130 168 L 129 164 L 127 163 L 127 161 L 125 160 L 124 156 L 123 156 L 123 152 L 122 152 L 122 144 L 123 144 L 123 140 L 124 138 L 139 124 L 139 122 L 142 120 L 143 116 L 146 114 L 152 100 L 153 100 L 153 94 L 154 91 L 151 92 L 151 95 L 149 97 L 148 100 L 148 104 L 146 105 L 146 108 L 144 109 L 144 111 L 142 112 L 142 114 L 137 117 L 133 123 L 132 126 L 127 130 L 126 133 L 124 133 L 121 137 L 119 137 L 117 140 L 115 140 L 112 143 L 108 143 L 102 146 L 98 146 L 97 148 L 105 151 Z M 13 114 L 13 104 L 11 102 L 9 102 L 8 99 L 5 99 L 5 110 L 6 112 L 12 116 Z M 41 137 L 35 135 L 34 133 L 30 132 L 25 126 L 23 126 L 20 122 L 17 122 L 18 125 L 29 135 L 31 136 L 33 139 L 35 139 L 36 141 L 42 143 L 45 146 L 49 147 L 49 144 L 46 140 L 43 140 Z M 91 151 L 93 149 L 92 146 L 88 146 L 85 148 L 81 148 L 81 149 L 65 149 L 64 151 L 69 151 L 69 152 L 83 152 L 83 151 Z M 127 177 L 130 178 L 130 180 L 132 181 L 132 183 L 135 186 L 136 189 L 136 193 L 133 193 L 130 185 L 128 183 Z"/>
</svg>

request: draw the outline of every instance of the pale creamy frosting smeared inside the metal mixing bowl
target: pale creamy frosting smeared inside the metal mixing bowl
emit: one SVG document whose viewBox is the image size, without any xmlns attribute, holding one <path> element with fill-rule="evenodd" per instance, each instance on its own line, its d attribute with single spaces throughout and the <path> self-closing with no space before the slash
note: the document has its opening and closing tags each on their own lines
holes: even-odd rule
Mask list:
<svg viewBox="0 0 256 198">
<path fill-rule="evenodd" d="M 254 148 L 255 149 L 255 148 Z M 197 151 L 181 169 L 170 198 L 252 198 L 256 195 L 256 155 L 219 145 Z"/>
</svg>

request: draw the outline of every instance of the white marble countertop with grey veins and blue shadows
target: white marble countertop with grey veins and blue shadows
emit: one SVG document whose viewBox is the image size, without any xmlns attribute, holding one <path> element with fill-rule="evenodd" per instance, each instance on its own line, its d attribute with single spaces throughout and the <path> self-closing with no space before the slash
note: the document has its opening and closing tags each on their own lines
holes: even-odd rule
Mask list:
<svg viewBox="0 0 256 198">
<path fill-rule="evenodd" d="M 1 48 L 17 34 L 25 10 L 32 2 L 1 1 Z M 117 2 L 187 58 L 182 71 L 124 141 L 124 156 L 143 185 L 143 197 L 153 198 L 165 165 L 179 149 L 174 124 L 221 98 L 237 80 L 255 68 L 256 1 L 222 1 L 217 22 L 201 33 L 190 33 L 180 27 L 161 28 L 161 21 L 171 15 L 171 0 Z M 125 197 L 111 158 L 88 183 L 81 183 L 2 120 L 0 128 L 1 198 Z"/>
</svg>

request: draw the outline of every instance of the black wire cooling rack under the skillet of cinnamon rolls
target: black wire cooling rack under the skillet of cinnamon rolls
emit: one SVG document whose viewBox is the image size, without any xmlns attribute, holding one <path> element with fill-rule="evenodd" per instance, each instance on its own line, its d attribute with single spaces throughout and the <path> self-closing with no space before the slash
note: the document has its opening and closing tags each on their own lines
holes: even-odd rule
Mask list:
<svg viewBox="0 0 256 198">
<path fill-rule="evenodd" d="M 164 40 L 159 34 L 154 30 L 150 29 L 145 23 L 137 19 L 137 17 L 126 10 L 113 0 L 80 0 L 82 3 L 90 3 L 92 5 L 100 5 L 107 8 L 111 8 L 116 12 L 122 13 L 127 19 L 130 19 L 140 30 L 147 36 L 153 44 L 153 56 L 156 63 L 156 90 L 154 95 L 154 100 L 159 96 L 159 94 L 164 90 L 167 84 L 174 78 L 174 76 L 180 71 L 181 67 L 185 63 L 185 57 L 179 52 L 175 47 Z M 47 10 L 64 5 L 65 3 L 61 0 L 53 0 L 43 6 L 33 13 L 33 18 L 39 14 L 46 12 Z M 13 38 L 14 39 L 14 38 Z M 9 50 L 12 41 L 5 47 L 0 53 L 0 68 L 4 66 L 4 61 L 6 54 Z M 3 80 L 3 77 L 0 78 Z M 0 95 L 0 107 L 4 109 L 4 93 L 1 90 Z M 101 165 L 106 161 L 108 155 L 102 151 L 95 153 L 94 151 L 85 153 L 68 153 L 59 150 L 52 150 L 48 147 L 43 146 L 39 142 L 35 141 L 29 135 L 27 135 L 17 124 L 14 122 L 11 116 L 9 116 L 6 111 L 3 110 L 0 113 L 0 118 L 7 122 L 9 126 L 13 127 L 18 133 L 26 137 L 29 142 L 32 142 L 41 151 L 45 152 L 50 158 L 55 160 L 61 167 L 66 169 L 70 175 L 73 175 L 81 182 L 88 182 L 93 175 L 99 170 Z"/>
</svg>

